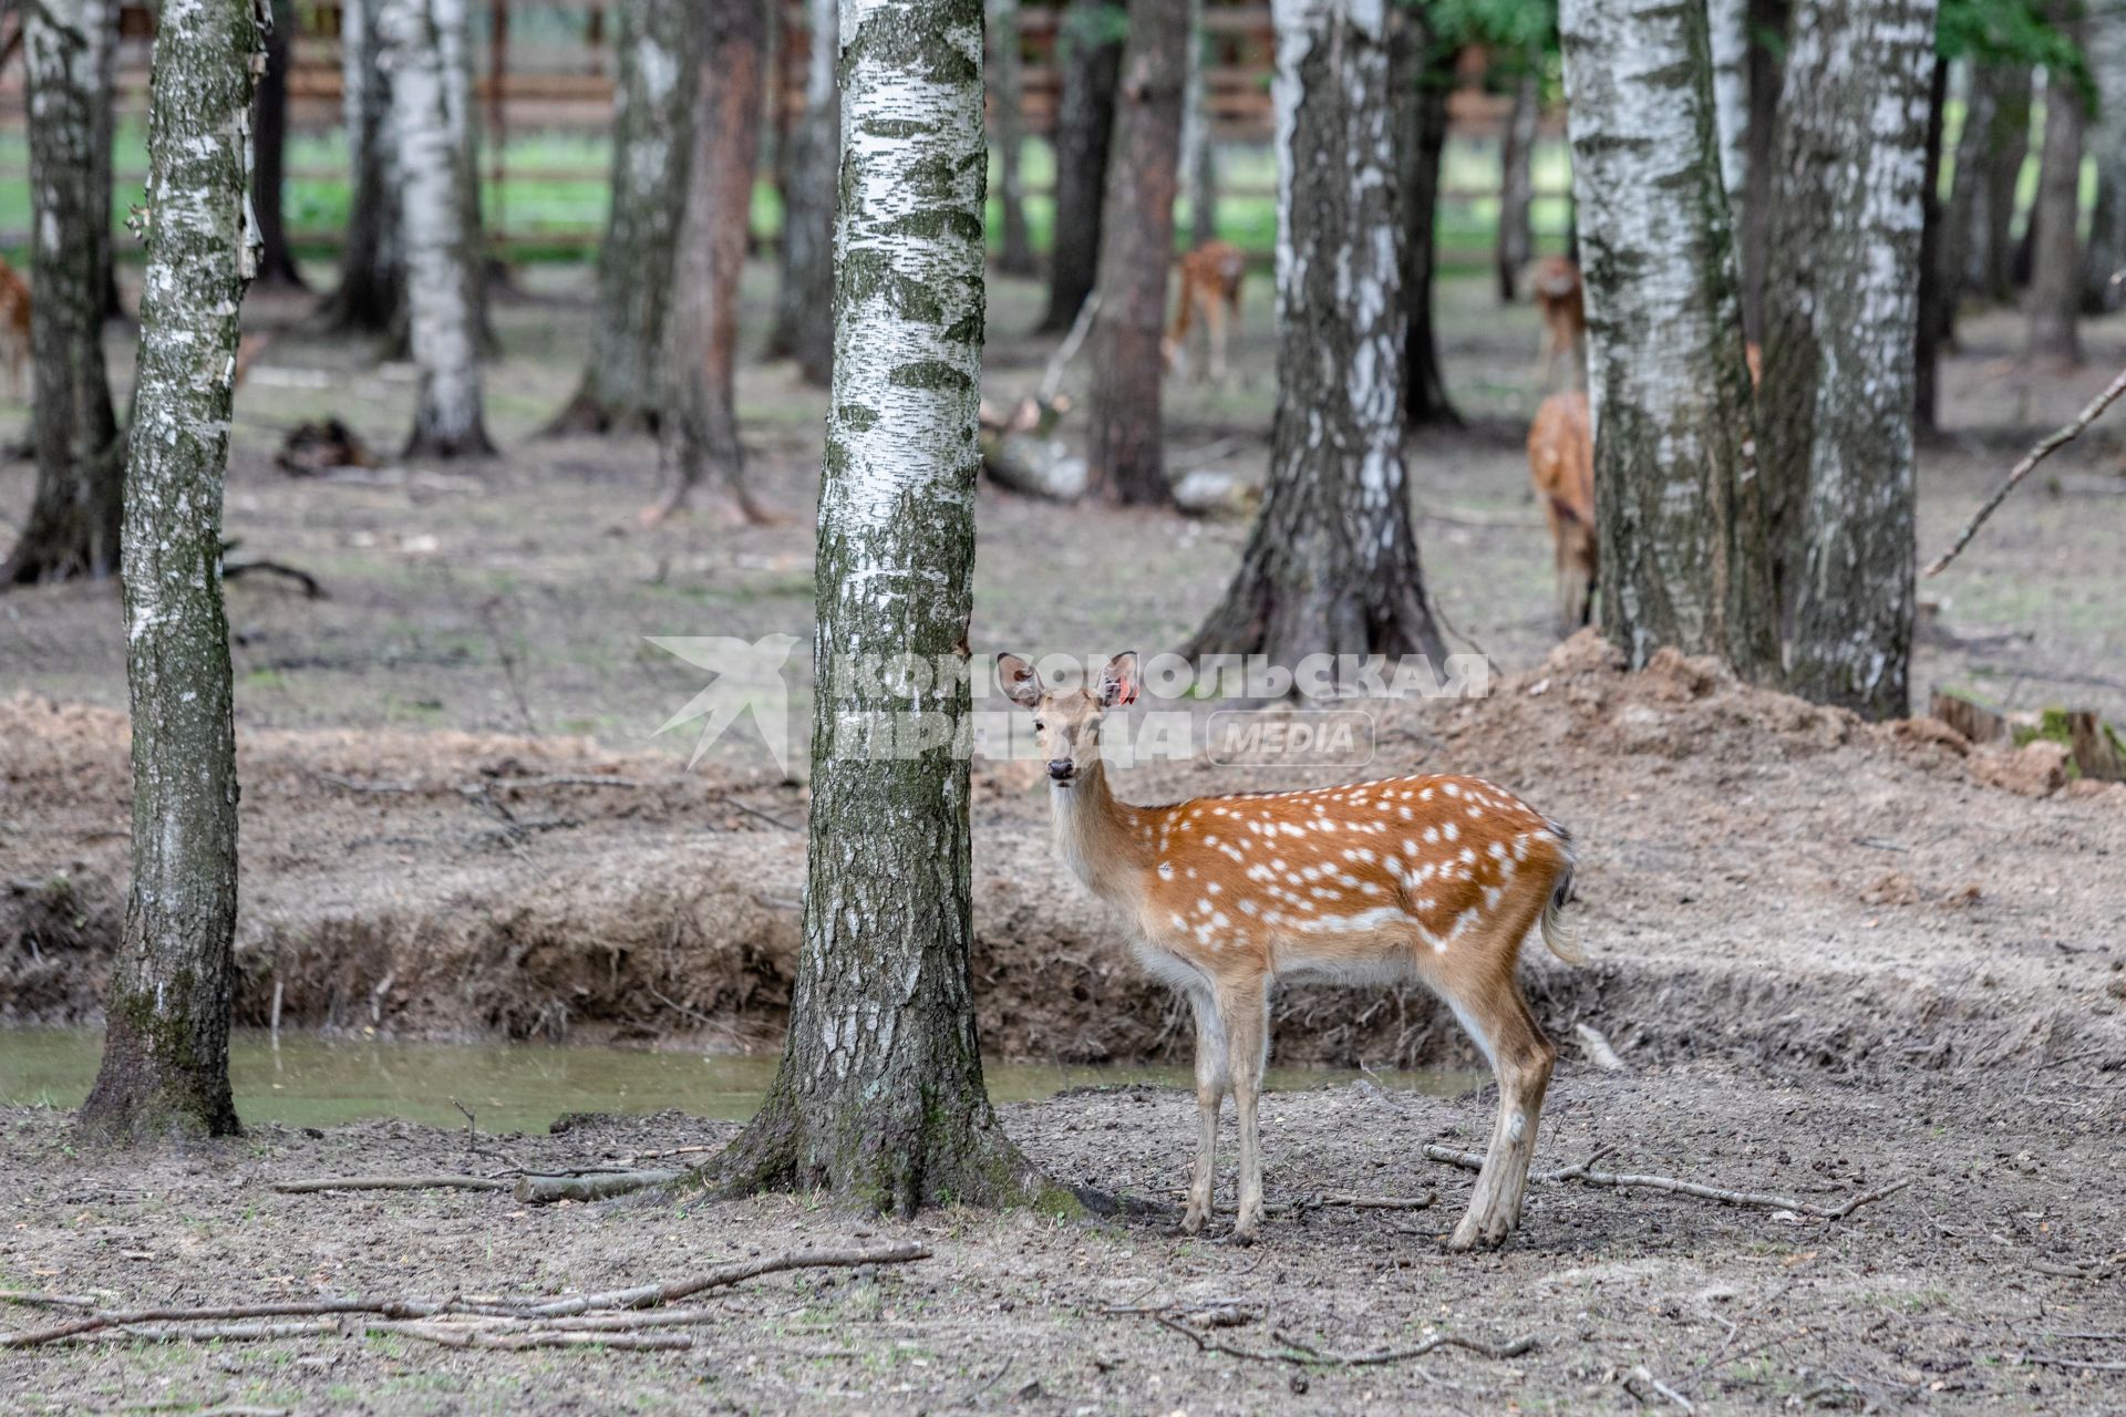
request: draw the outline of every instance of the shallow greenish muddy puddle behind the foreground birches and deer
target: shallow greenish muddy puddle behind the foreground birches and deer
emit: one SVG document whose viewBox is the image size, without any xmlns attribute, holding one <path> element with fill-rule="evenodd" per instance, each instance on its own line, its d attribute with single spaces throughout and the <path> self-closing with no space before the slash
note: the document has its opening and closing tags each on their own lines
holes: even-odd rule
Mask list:
<svg viewBox="0 0 2126 1417">
<path fill-rule="evenodd" d="M 96 1028 L 0 1028 L 0 1103 L 72 1109 L 96 1081 Z M 402 1043 L 385 1039 L 236 1030 L 230 1075 L 244 1122 L 332 1126 L 364 1117 L 463 1124 L 457 1103 L 495 1132 L 542 1132 L 570 1111 L 678 1109 L 740 1122 L 774 1079 L 774 1054 L 702 1056 L 540 1043 Z M 991 1062 L 997 1103 L 1048 1098 L 1114 1083 L 1191 1086 L 1180 1066 L 1029 1066 Z M 1348 1083 L 1356 1073 L 1271 1069 L 1271 1092 Z M 1452 1069 L 1382 1073 L 1390 1090 L 1456 1096 L 1484 1081 Z M 455 1103 L 453 1103 L 455 1098 Z"/>
</svg>

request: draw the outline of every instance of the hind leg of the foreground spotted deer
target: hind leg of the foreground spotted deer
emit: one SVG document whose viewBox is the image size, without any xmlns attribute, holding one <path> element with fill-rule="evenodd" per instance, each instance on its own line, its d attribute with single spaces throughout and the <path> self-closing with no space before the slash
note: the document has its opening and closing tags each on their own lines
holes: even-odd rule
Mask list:
<svg viewBox="0 0 2126 1417">
<path fill-rule="evenodd" d="M 1533 882 L 1533 877 L 1531 877 Z M 1529 1001 L 1514 977 L 1520 937 L 1535 924 L 1541 903 L 1520 920 L 1505 950 L 1490 952 L 1482 975 L 1469 988 L 1448 992 L 1448 1005 L 1475 1045 L 1490 1060 L 1499 1079 L 1499 1117 L 1492 1124 L 1490 1149 L 1469 1196 L 1469 1213 L 1454 1226 L 1450 1249 L 1501 1245 L 1520 1224 L 1520 1205 L 1529 1190 L 1529 1162 L 1535 1160 L 1535 1130 L 1543 1115 L 1543 1092 L 1558 1049 L 1543 1037 Z"/>
</svg>

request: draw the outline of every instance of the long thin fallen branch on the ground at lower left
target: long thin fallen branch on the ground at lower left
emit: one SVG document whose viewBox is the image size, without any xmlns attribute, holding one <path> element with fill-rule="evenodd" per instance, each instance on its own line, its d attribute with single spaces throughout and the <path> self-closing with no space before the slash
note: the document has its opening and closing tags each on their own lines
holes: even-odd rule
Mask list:
<svg viewBox="0 0 2126 1417">
<path fill-rule="evenodd" d="M 761 1275 L 778 1275 L 782 1270 L 799 1268 L 853 1268 L 861 1264 L 908 1264 L 912 1260 L 927 1260 L 929 1249 L 923 1245 L 891 1245 L 887 1249 L 799 1249 L 793 1253 L 765 1256 L 759 1260 L 742 1260 L 738 1264 L 725 1264 L 702 1275 L 687 1279 L 672 1279 L 668 1283 L 638 1285 L 631 1290 L 608 1290 L 604 1294 L 576 1294 L 568 1298 L 544 1298 L 544 1300 L 466 1300 L 466 1298 L 327 1298 L 327 1300 L 289 1300 L 272 1304 L 215 1304 L 202 1309 L 94 1309 L 81 1317 L 68 1319 L 64 1324 L 53 1324 L 51 1328 L 32 1328 L 17 1334 L 0 1334 L 0 1349 L 28 1349 L 45 1343 L 77 1343 L 91 1341 L 100 1336 L 125 1336 L 125 1338 L 153 1338 L 159 1343 L 191 1343 L 191 1341 L 257 1341 L 257 1338 L 289 1338 L 306 1334 L 334 1334 L 334 1332 L 398 1332 L 389 1324 L 378 1324 L 378 1319 L 440 1319 L 446 1315 L 478 1315 L 485 1319 L 500 1319 L 504 1324 L 519 1324 L 523 1328 L 502 1330 L 495 1324 L 485 1328 L 463 1328 L 461 1332 L 489 1332 L 506 1334 L 514 1338 L 540 1338 L 538 1343 L 519 1347 L 566 1347 L 576 1343 L 597 1343 L 593 1336 L 597 1330 L 578 1324 L 551 1324 L 546 1319 L 583 1315 L 608 1309 L 655 1309 L 657 1304 L 668 1304 L 672 1300 L 691 1298 L 708 1290 L 723 1290 L 746 1279 L 759 1279 Z M 4 1296 L 13 1298 L 13 1296 Z M 28 1296 L 19 1302 L 57 1302 L 72 1296 Z M 706 1311 L 695 1311 L 695 1315 L 663 1315 L 668 1321 L 678 1317 L 680 1321 L 702 1321 Z M 338 1317 L 361 1317 L 364 1324 L 344 1326 L 334 1321 Z M 313 1319 L 313 1324 L 230 1324 L 227 1319 Z M 323 1321 L 315 1321 L 323 1319 Z M 181 1326 L 181 1328 L 170 1328 Z M 425 1328 L 438 1328 L 427 1324 Z M 651 1328 L 651 1324 L 634 1324 L 612 1328 Z M 551 1332 L 585 1332 L 580 1338 L 568 1338 L 566 1343 L 546 1343 L 544 1334 Z M 453 1336 L 459 1328 L 449 1330 Z M 417 1338 L 432 1338 L 434 1334 L 417 1332 Z M 434 1338 L 442 1343 L 442 1338 Z M 459 1347 L 510 1347 L 510 1345 L 483 1345 L 468 1341 Z M 685 1347 L 685 1345 L 651 1345 L 651 1343 L 627 1343 L 619 1347 Z"/>
</svg>

